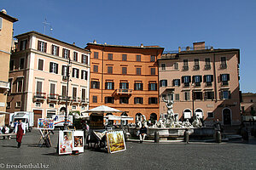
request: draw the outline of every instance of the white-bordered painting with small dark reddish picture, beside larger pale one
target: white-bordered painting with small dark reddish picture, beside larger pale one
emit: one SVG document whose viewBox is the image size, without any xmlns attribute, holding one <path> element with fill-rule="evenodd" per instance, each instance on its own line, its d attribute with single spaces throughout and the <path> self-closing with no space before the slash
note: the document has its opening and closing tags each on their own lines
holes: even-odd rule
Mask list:
<svg viewBox="0 0 256 170">
<path fill-rule="evenodd" d="M 73 150 L 84 152 L 84 132 L 81 130 L 73 131 Z"/>
</svg>

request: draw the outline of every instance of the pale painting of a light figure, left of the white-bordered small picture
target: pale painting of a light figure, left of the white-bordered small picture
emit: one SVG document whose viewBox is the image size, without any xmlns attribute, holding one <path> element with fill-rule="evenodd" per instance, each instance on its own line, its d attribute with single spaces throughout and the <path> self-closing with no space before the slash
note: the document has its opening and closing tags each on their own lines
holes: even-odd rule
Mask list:
<svg viewBox="0 0 256 170">
<path fill-rule="evenodd" d="M 59 155 L 72 154 L 73 132 L 70 130 L 59 131 Z"/>
</svg>

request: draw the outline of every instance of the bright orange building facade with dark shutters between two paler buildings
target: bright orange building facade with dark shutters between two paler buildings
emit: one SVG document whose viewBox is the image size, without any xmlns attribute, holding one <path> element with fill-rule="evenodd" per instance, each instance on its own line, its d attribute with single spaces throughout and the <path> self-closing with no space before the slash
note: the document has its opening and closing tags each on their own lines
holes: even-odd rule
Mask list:
<svg viewBox="0 0 256 170">
<path fill-rule="evenodd" d="M 87 43 L 90 50 L 90 109 L 108 105 L 122 115 L 159 116 L 159 46 Z M 121 115 L 121 114 L 117 114 Z"/>
</svg>

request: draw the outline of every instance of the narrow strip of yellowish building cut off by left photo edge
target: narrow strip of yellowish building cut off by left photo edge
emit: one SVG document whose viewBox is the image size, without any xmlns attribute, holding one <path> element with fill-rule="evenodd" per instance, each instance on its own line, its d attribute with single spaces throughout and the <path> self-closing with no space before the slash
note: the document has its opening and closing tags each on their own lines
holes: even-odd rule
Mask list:
<svg viewBox="0 0 256 170">
<path fill-rule="evenodd" d="M 5 119 L 4 113 L 9 91 L 9 59 L 13 41 L 13 23 L 16 21 L 18 20 L 9 16 L 4 9 L 0 12 L 0 126 L 3 126 Z"/>
</svg>

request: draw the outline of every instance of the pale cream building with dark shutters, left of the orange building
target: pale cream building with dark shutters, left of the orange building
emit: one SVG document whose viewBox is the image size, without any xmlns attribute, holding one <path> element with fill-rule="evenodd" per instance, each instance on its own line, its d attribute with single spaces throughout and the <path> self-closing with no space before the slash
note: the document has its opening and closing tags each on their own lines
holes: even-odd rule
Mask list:
<svg viewBox="0 0 256 170">
<path fill-rule="evenodd" d="M 16 38 L 17 49 L 10 59 L 7 111 L 33 111 L 35 122 L 40 117 L 64 114 L 68 66 L 71 81 L 67 109 L 87 111 L 90 51 L 36 31 Z"/>
</svg>

